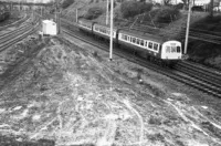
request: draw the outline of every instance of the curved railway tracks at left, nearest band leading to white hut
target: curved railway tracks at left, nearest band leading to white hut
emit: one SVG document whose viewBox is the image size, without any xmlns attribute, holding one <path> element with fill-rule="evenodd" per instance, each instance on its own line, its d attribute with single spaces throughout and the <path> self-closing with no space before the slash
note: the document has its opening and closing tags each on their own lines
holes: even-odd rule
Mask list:
<svg viewBox="0 0 221 146">
<path fill-rule="evenodd" d="M 19 29 L 1 34 L 0 35 L 0 52 L 8 49 L 12 44 L 14 44 L 18 41 L 21 41 L 22 39 L 27 38 L 28 35 L 32 34 L 34 31 L 36 31 L 38 28 L 38 19 L 34 21 L 34 25 L 27 23 Z"/>
</svg>

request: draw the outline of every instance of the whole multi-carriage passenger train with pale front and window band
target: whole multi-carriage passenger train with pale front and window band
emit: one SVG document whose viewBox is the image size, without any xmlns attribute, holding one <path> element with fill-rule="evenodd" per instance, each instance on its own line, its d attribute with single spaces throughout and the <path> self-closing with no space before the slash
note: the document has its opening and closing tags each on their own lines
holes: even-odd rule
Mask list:
<svg viewBox="0 0 221 146">
<path fill-rule="evenodd" d="M 107 25 L 84 19 L 78 20 L 77 24 L 81 31 L 109 39 L 110 29 Z M 114 28 L 113 41 L 115 44 L 133 49 L 143 56 L 162 64 L 173 65 L 182 60 L 181 42 L 176 40 L 166 41 L 162 38 L 147 33 Z"/>
</svg>

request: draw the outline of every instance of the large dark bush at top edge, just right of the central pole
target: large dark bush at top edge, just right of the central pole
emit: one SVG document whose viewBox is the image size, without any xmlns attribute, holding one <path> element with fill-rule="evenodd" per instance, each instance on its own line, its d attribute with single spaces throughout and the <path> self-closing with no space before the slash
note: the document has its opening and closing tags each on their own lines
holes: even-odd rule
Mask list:
<svg viewBox="0 0 221 146">
<path fill-rule="evenodd" d="M 152 3 L 125 1 L 122 3 L 120 11 L 124 18 L 135 17 L 137 14 L 148 12 L 152 8 Z"/>
</svg>

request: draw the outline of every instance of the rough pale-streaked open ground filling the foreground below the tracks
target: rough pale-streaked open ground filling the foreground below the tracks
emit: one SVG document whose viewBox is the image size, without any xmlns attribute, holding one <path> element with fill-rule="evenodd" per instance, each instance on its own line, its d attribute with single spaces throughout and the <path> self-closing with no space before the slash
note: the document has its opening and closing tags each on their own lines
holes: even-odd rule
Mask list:
<svg viewBox="0 0 221 146">
<path fill-rule="evenodd" d="M 14 48 L 2 56 L 1 145 L 221 145 L 218 98 L 69 35 Z"/>
</svg>

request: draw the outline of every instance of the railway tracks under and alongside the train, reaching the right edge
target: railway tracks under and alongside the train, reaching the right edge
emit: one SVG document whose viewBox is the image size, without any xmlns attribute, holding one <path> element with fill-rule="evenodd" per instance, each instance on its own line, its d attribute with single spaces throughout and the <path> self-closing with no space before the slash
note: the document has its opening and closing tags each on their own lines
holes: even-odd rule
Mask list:
<svg viewBox="0 0 221 146">
<path fill-rule="evenodd" d="M 70 27 L 66 25 L 65 28 L 70 28 Z M 64 29 L 63 32 L 78 40 L 87 42 L 96 48 L 99 48 L 107 52 L 109 51 L 106 44 L 103 44 L 103 45 L 101 43 L 97 44 L 97 42 L 94 42 L 95 40 L 92 40 L 92 38 L 81 34 L 76 30 L 77 30 L 76 28 L 73 28 L 72 30 Z M 160 74 L 164 74 L 176 81 L 179 81 L 189 86 L 192 86 L 199 91 L 208 93 L 209 95 L 221 97 L 220 76 L 218 76 L 217 74 L 211 74 L 211 71 L 208 71 L 204 67 L 200 69 L 200 67 L 196 67 L 196 65 L 190 65 L 191 63 L 189 62 L 182 62 L 176 66 L 176 70 L 170 70 L 170 69 L 161 67 L 157 64 L 152 64 L 151 62 L 148 62 L 145 59 L 135 56 L 131 53 L 125 52 L 123 50 L 115 49 L 114 53 L 118 56 L 127 59 L 130 62 L 138 63 L 141 66 L 154 70 Z M 206 70 L 208 72 L 206 72 Z"/>
</svg>

